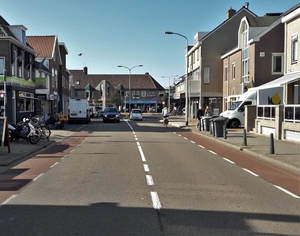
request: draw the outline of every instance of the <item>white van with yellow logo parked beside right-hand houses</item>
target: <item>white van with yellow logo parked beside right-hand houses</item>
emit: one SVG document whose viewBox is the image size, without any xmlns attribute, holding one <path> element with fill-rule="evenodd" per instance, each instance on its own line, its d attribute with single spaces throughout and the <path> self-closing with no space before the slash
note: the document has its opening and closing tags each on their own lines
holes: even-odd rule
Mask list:
<svg viewBox="0 0 300 236">
<path fill-rule="evenodd" d="M 241 94 L 236 102 L 220 116 L 228 118 L 227 126 L 237 128 L 245 124 L 246 105 L 277 105 L 283 102 L 283 87 L 251 88 Z"/>
</svg>

